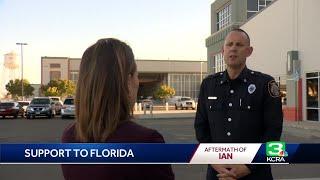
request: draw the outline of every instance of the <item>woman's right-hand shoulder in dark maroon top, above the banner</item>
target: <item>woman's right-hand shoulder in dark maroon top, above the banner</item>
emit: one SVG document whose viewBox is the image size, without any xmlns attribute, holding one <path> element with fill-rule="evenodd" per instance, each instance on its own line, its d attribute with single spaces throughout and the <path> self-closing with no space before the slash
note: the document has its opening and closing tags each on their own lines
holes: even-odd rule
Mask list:
<svg viewBox="0 0 320 180">
<path fill-rule="evenodd" d="M 163 136 L 154 129 L 134 121 L 127 121 L 110 136 L 108 142 L 164 143 Z"/>
</svg>

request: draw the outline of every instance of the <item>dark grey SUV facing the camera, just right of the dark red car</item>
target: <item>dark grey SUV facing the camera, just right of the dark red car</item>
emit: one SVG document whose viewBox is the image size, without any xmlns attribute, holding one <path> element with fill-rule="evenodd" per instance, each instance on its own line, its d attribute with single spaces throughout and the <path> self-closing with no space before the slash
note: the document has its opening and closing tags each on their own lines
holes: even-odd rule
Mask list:
<svg viewBox="0 0 320 180">
<path fill-rule="evenodd" d="M 26 113 L 27 119 L 35 118 L 37 116 L 52 118 L 55 115 L 55 103 L 49 97 L 33 98 Z"/>
</svg>

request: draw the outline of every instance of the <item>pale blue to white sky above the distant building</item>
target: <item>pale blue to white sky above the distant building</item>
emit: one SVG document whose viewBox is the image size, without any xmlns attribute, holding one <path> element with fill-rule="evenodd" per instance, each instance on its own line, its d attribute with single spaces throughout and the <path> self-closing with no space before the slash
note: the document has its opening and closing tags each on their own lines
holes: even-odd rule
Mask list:
<svg viewBox="0 0 320 180">
<path fill-rule="evenodd" d="M 127 42 L 137 59 L 206 60 L 213 1 L 0 0 L 0 63 L 26 42 L 24 77 L 40 83 L 41 56 L 80 58 L 106 37 Z"/>
</svg>

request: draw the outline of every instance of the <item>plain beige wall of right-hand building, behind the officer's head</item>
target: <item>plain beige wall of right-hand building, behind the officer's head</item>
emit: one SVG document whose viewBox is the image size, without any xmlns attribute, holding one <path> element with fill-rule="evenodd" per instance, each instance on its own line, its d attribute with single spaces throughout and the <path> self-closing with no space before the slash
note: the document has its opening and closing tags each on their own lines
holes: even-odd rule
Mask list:
<svg viewBox="0 0 320 180">
<path fill-rule="evenodd" d="M 307 72 L 320 71 L 319 0 L 278 0 L 241 28 L 250 37 L 254 52 L 248 66 L 273 76 L 286 74 L 287 52 L 297 50 L 301 61 L 303 119 L 306 119 Z"/>
</svg>

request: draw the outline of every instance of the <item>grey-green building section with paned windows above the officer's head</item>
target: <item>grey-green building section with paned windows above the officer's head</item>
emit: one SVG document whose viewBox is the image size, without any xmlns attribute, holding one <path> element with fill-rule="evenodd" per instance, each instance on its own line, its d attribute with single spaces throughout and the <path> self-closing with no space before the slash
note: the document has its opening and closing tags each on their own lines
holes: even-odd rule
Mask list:
<svg viewBox="0 0 320 180">
<path fill-rule="evenodd" d="M 228 32 L 271 3 L 272 0 L 216 0 L 211 4 L 211 35 L 206 39 L 208 73 L 225 69 L 221 49 Z"/>
</svg>

